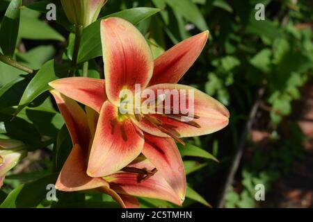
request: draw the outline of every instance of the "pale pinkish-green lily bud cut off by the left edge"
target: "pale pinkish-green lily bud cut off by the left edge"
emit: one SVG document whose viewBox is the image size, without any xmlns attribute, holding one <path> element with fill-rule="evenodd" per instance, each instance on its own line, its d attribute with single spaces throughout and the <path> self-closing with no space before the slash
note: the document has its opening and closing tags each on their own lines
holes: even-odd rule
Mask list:
<svg viewBox="0 0 313 222">
<path fill-rule="evenodd" d="M 6 173 L 27 154 L 26 146 L 14 139 L 0 139 L 0 188 Z"/>
</svg>

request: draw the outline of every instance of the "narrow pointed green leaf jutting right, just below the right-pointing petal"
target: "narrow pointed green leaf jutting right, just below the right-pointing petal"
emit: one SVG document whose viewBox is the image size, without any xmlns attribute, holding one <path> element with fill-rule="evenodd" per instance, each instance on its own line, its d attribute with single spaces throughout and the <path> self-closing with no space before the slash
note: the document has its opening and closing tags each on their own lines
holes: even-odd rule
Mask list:
<svg viewBox="0 0 313 222">
<path fill-rule="evenodd" d="M 185 146 L 183 146 L 182 144 L 177 144 L 177 147 L 179 148 L 179 152 L 181 155 L 186 155 L 190 157 L 202 157 L 218 162 L 214 155 L 211 155 L 207 151 L 204 151 L 202 148 L 199 148 L 198 146 L 195 146 L 193 144 L 187 143 Z"/>
</svg>

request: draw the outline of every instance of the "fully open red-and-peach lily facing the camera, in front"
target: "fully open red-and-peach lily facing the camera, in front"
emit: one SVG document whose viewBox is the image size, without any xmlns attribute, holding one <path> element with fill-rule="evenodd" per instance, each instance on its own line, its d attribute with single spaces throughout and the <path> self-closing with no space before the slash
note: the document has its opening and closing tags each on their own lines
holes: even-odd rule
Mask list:
<svg viewBox="0 0 313 222">
<path fill-rule="evenodd" d="M 200 55 L 208 35 L 205 31 L 190 37 L 153 60 L 150 47 L 135 26 L 116 17 L 102 20 L 105 80 L 73 77 L 49 83 L 58 92 L 99 112 L 88 158 L 89 176 L 111 175 L 143 153 L 184 200 L 186 177 L 175 140 L 184 144 L 182 137 L 214 133 L 227 126 L 229 119 L 228 110 L 211 96 L 177 84 Z M 194 94 L 193 112 L 189 113 L 193 120 L 188 121 L 179 108 L 173 110 L 175 113 L 149 114 L 136 113 L 135 105 L 133 112 L 122 114 L 121 92 L 127 89 L 136 100 L 136 85 L 153 92 L 163 90 L 158 101 L 170 99 L 170 89 L 176 89 L 180 97 L 188 96 L 186 91 L 190 89 Z M 158 102 L 157 106 L 172 110 L 172 105 Z"/>
</svg>

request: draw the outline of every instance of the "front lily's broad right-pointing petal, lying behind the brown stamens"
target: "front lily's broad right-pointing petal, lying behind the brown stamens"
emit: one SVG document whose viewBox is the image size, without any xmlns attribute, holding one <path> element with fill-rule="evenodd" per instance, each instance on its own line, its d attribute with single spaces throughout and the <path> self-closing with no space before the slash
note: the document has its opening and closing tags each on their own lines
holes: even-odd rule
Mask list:
<svg viewBox="0 0 313 222">
<path fill-rule="evenodd" d="M 159 93 L 163 92 L 166 99 L 172 98 L 170 96 L 170 93 L 173 92 L 172 89 L 177 90 L 179 95 L 179 108 L 176 108 L 176 110 L 180 109 L 180 104 L 182 101 L 186 101 L 186 108 L 193 108 L 193 114 L 200 117 L 199 119 L 193 119 L 193 122 L 200 126 L 195 127 L 189 125 L 188 121 L 176 121 L 162 114 L 152 114 L 153 117 L 156 117 L 159 119 L 159 121 L 161 121 L 163 128 L 170 130 L 172 133 L 177 135 L 177 137 L 195 137 L 200 135 L 207 135 L 224 128 L 228 124 L 230 113 L 225 108 L 225 106 L 198 89 L 179 84 L 158 84 L 147 87 L 147 89 L 152 89 L 155 94 L 157 94 L 158 90 L 161 90 Z M 189 94 L 188 90 L 191 90 L 190 92 L 193 92 L 194 95 L 194 103 L 190 105 L 188 104 L 188 96 L 192 93 Z M 185 95 L 187 100 L 184 100 L 184 96 L 182 95 Z M 170 104 L 173 104 L 172 99 Z M 166 107 L 166 109 L 170 108 Z M 159 137 L 168 137 L 166 133 L 163 133 L 161 130 L 159 130 L 159 128 L 155 127 L 145 118 L 142 121 L 136 121 L 136 119 L 132 120 L 139 128 L 141 128 L 141 130 L 145 131 L 146 133 L 150 133 Z"/>
</svg>

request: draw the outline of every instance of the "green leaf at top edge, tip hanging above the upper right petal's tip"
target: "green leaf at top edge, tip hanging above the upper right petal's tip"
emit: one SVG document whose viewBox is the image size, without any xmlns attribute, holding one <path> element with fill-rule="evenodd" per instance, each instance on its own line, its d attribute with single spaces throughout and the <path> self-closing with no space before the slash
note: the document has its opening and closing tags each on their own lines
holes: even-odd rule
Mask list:
<svg viewBox="0 0 313 222">
<path fill-rule="evenodd" d="M 209 29 L 198 6 L 191 0 L 166 0 L 166 3 L 188 22 L 195 24 L 201 31 Z"/>
</svg>

